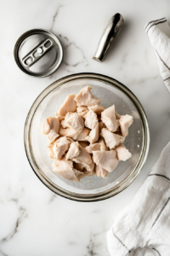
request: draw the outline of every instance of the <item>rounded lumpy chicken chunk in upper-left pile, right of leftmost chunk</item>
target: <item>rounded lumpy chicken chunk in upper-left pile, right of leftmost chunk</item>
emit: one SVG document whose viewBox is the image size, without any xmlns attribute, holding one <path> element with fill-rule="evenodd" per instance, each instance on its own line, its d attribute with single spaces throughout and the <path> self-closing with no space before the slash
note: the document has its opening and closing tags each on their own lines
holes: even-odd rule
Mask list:
<svg viewBox="0 0 170 256">
<path fill-rule="evenodd" d="M 75 131 L 82 131 L 84 128 L 84 120 L 78 115 L 78 113 L 68 112 L 65 115 L 65 120 L 61 121 L 61 125 L 69 127 Z"/>
</svg>

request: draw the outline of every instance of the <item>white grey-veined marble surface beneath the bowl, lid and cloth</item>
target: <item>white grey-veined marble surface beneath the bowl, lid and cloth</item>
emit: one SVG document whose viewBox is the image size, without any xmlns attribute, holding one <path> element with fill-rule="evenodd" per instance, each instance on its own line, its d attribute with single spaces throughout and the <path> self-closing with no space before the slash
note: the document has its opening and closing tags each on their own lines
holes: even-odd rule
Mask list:
<svg viewBox="0 0 170 256">
<path fill-rule="evenodd" d="M 169 1 L 38 0 L 1 1 L 1 171 L 0 255 L 108 256 L 105 234 L 133 199 L 169 141 L 170 95 L 144 32 L 150 20 L 166 16 Z M 103 63 L 92 60 L 111 15 L 125 20 L 122 33 Z M 14 62 L 14 44 L 32 28 L 53 31 L 65 57 L 46 79 L 26 76 Z M 23 143 L 26 114 L 39 93 L 71 73 L 102 73 L 126 84 L 139 97 L 150 122 L 150 154 L 139 177 L 121 194 L 94 203 L 54 195 L 36 177 Z"/>
</svg>

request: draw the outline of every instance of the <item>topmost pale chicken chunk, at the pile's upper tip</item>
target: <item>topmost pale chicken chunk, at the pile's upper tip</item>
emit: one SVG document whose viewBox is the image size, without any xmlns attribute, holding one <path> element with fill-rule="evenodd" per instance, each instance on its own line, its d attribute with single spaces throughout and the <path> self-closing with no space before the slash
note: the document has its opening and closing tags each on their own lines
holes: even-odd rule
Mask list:
<svg viewBox="0 0 170 256">
<path fill-rule="evenodd" d="M 92 87 L 87 86 L 83 88 L 75 97 L 75 101 L 77 102 L 77 106 L 93 106 L 99 104 L 101 100 L 96 98 L 92 93 Z"/>
</svg>

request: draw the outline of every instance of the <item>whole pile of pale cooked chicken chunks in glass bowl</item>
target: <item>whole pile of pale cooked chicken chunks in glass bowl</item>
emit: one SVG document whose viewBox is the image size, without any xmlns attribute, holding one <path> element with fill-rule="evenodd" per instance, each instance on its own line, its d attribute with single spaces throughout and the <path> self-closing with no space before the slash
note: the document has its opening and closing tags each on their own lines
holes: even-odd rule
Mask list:
<svg viewBox="0 0 170 256">
<path fill-rule="evenodd" d="M 100 106 L 100 99 L 83 88 L 67 96 L 55 117 L 43 120 L 53 172 L 75 182 L 86 176 L 107 177 L 120 160 L 132 154 L 122 144 L 133 123 L 130 115 L 116 113 L 115 106 Z"/>
</svg>

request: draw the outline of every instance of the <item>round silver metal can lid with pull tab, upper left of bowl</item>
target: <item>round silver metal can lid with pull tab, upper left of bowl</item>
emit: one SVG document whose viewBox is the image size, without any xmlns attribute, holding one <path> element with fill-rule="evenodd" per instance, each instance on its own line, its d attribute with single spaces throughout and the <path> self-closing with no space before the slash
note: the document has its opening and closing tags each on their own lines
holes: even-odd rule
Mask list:
<svg viewBox="0 0 170 256">
<path fill-rule="evenodd" d="M 43 78 L 57 70 L 63 59 L 63 49 L 52 32 L 33 29 L 16 42 L 14 59 L 23 72 Z"/>
</svg>

